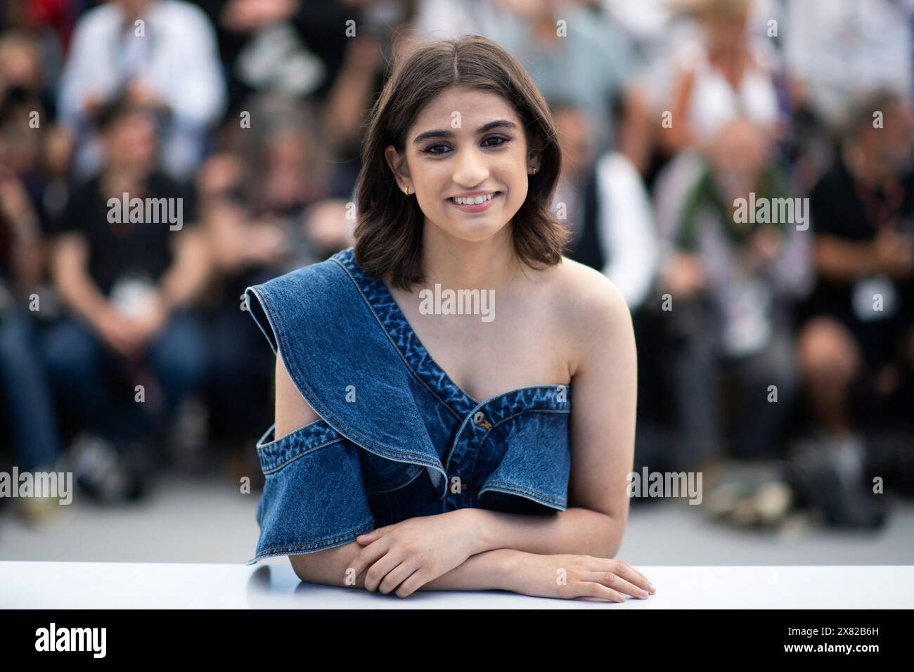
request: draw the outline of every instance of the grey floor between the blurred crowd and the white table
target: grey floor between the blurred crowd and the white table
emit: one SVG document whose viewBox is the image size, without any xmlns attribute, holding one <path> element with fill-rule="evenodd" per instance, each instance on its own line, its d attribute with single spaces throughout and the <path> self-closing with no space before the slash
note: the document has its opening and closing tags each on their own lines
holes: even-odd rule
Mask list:
<svg viewBox="0 0 914 672">
<path fill-rule="evenodd" d="M 257 541 L 259 493 L 226 477 L 160 479 L 142 504 L 80 500 L 44 528 L 0 510 L 0 560 L 246 562 Z M 685 500 L 632 506 L 618 557 L 632 565 L 914 564 L 914 502 L 898 502 L 877 533 L 798 522 L 780 532 L 729 528 Z"/>
</svg>

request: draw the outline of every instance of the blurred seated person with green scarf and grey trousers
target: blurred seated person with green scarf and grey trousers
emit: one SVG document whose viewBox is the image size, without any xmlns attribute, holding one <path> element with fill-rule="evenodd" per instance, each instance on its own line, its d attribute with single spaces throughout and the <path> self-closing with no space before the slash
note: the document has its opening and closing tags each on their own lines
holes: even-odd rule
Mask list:
<svg viewBox="0 0 914 672">
<path fill-rule="evenodd" d="M 679 468 L 685 469 L 725 455 L 780 456 L 782 423 L 798 388 L 792 308 L 812 277 L 810 234 L 799 221 L 779 221 L 773 206 L 768 222 L 737 212 L 738 199 L 750 192 L 769 203 L 792 197 L 764 127 L 732 120 L 707 146 L 693 163 L 668 166 L 685 166 L 685 178 L 658 179 L 659 200 L 669 198 L 665 189 L 675 190 L 675 208 L 658 208 L 658 226 L 661 291 L 671 301 L 664 320 L 672 341 L 669 375 L 683 434 Z M 726 415 L 724 373 L 738 386 Z M 734 430 L 729 440 L 727 417 Z"/>
</svg>

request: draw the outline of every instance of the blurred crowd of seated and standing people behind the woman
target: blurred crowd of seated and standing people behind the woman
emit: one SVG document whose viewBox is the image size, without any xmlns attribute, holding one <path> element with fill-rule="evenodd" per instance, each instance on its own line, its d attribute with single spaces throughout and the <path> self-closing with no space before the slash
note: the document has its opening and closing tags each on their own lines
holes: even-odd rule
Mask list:
<svg viewBox="0 0 914 672">
<path fill-rule="evenodd" d="M 547 97 L 568 256 L 631 308 L 636 471 L 748 465 L 710 498 L 740 524 L 877 528 L 874 490 L 914 494 L 914 2 L 0 11 L 0 464 L 106 502 L 165 469 L 260 485 L 273 359 L 243 290 L 352 244 L 390 64 L 473 33 Z"/>
</svg>

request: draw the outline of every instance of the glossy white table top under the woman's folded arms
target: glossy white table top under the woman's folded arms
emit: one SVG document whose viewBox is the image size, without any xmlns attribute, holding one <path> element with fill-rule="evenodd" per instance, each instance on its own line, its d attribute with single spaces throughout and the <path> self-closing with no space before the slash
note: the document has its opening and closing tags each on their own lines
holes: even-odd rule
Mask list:
<svg viewBox="0 0 914 672">
<path fill-rule="evenodd" d="M 914 607 L 914 565 L 638 567 L 657 593 L 627 603 L 511 592 L 409 598 L 299 581 L 285 558 L 260 565 L 0 561 L 0 609 L 885 609 Z"/>
</svg>

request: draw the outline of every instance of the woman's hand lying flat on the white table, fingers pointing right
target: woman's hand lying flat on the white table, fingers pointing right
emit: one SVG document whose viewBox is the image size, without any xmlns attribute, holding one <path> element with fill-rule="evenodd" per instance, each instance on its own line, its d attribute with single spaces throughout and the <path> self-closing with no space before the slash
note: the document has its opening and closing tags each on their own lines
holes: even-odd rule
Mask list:
<svg viewBox="0 0 914 672">
<path fill-rule="evenodd" d="M 522 553 L 508 572 L 507 590 L 533 597 L 599 597 L 625 602 L 625 595 L 647 598 L 657 589 L 626 562 L 590 555 Z"/>
</svg>

